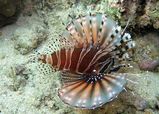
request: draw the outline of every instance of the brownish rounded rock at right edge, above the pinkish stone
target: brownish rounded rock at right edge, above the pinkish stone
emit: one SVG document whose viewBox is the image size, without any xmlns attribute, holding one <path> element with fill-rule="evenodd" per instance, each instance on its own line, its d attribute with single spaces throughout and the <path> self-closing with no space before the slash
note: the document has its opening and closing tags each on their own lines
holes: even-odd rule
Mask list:
<svg viewBox="0 0 159 114">
<path fill-rule="evenodd" d="M 146 33 L 143 36 L 137 36 L 135 51 L 135 61 L 139 64 L 143 60 L 158 60 L 159 57 L 159 35 L 157 32 Z"/>
</svg>

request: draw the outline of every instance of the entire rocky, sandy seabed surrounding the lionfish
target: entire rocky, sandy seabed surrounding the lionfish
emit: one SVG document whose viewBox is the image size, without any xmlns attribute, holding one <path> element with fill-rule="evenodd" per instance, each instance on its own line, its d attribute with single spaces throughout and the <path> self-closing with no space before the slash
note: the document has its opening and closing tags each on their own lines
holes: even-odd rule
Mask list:
<svg viewBox="0 0 159 114">
<path fill-rule="evenodd" d="M 116 99 L 94 110 L 62 102 L 60 72 L 29 62 L 79 15 L 106 14 L 136 42 L 130 81 Z M 129 21 L 129 22 L 128 22 Z M 0 0 L 0 114 L 159 114 L 158 0 Z"/>
</svg>

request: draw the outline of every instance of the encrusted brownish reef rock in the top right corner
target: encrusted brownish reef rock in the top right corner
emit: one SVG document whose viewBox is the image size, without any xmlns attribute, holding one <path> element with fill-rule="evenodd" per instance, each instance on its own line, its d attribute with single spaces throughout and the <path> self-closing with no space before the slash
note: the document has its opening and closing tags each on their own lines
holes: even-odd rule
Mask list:
<svg viewBox="0 0 159 114">
<path fill-rule="evenodd" d="M 133 27 L 144 28 L 152 26 L 159 29 L 159 1 L 156 0 L 123 0 L 121 2 L 122 18 L 132 18 Z"/>
</svg>

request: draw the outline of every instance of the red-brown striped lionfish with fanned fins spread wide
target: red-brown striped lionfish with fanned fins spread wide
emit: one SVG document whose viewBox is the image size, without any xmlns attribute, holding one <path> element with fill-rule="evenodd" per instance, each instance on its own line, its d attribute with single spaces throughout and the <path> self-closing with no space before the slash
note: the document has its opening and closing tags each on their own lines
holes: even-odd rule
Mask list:
<svg viewBox="0 0 159 114">
<path fill-rule="evenodd" d="M 119 69 L 115 61 L 129 58 L 134 46 L 130 34 L 123 33 L 115 21 L 90 14 L 73 19 L 38 60 L 61 72 L 58 95 L 64 103 L 94 109 L 124 89 L 124 74 L 113 73 Z"/>
</svg>

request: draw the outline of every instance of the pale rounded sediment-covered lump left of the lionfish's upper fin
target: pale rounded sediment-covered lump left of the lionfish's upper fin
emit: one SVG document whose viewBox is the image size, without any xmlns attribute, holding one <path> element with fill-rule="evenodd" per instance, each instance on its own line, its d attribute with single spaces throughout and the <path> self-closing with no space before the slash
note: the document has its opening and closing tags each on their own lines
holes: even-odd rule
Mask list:
<svg viewBox="0 0 159 114">
<path fill-rule="evenodd" d="M 21 54 L 27 54 L 47 39 L 47 30 L 43 26 L 30 25 L 31 28 L 21 27 L 13 34 L 14 48 Z M 30 30 L 32 29 L 32 30 Z"/>
</svg>

